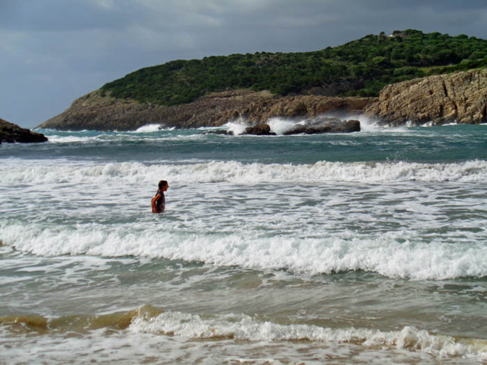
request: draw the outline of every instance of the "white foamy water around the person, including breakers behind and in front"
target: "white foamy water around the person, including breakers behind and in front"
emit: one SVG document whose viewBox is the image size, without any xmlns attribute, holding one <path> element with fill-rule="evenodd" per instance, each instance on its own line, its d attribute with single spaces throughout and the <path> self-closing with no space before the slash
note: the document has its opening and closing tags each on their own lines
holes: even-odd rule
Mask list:
<svg viewBox="0 0 487 365">
<path fill-rule="evenodd" d="M 148 209 L 159 177 L 171 185 L 162 232 Z M 486 179 L 487 161 L 5 159 L 0 239 L 42 256 L 164 257 L 300 275 L 365 270 L 409 279 L 486 277 Z"/>
</svg>

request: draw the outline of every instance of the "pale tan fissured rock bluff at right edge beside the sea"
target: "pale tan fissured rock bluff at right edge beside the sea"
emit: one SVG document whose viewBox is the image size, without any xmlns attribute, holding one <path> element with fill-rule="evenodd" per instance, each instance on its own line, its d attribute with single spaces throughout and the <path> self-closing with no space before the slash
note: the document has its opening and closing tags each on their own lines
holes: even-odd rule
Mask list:
<svg viewBox="0 0 487 365">
<path fill-rule="evenodd" d="M 487 69 L 441 74 L 395 83 L 381 91 L 365 113 L 399 125 L 487 121 Z"/>
</svg>

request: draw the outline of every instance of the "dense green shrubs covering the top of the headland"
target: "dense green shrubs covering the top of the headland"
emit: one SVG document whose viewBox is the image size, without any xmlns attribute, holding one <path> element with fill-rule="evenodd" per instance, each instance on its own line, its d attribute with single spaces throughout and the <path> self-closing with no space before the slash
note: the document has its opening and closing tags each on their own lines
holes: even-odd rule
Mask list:
<svg viewBox="0 0 487 365">
<path fill-rule="evenodd" d="M 102 92 L 164 105 L 238 88 L 277 95 L 377 96 L 389 83 L 477 67 L 487 67 L 487 40 L 408 29 L 321 51 L 173 60 L 106 83 Z"/>
</svg>

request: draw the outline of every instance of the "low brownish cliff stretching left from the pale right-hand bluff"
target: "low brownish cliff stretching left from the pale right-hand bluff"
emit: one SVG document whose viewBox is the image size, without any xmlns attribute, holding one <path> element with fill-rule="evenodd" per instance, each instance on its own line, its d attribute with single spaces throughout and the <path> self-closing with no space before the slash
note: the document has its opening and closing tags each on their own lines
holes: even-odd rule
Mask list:
<svg viewBox="0 0 487 365">
<path fill-rule="evenodd" d="M 361 113 L 372 100 L 313 95 L 276 97 L 269 92 L 232 90 L 206 95 L 190 104 L 161 106 L 102 97 L 99 90 L 95 90 L 75 100 L 70 108 L 39 127 L 99 131 L 134 130 L 145 124 L 177 128 L 218 127 L 238 117 L 259 123 L 276 116 L 314 117 L 327 111 Z"/>
</svg>

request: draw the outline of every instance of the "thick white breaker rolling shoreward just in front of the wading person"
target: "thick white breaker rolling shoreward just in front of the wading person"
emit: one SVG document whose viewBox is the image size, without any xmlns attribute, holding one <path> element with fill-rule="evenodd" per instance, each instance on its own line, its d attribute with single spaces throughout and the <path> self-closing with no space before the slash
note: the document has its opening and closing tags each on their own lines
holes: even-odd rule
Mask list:
<svg viewBox="0 0 487 365">
<path fill-rule="evenodd" d="M 255 230 L 208 234 L 180 232 L 178 226 L 166 223 L 160 232 L 159 225 L 148 222 L 65 227 L 34 224 L 28 228 L 2 224 L 0 236 L 16 250 L 41 256 L 163 257 L 216 266 L 285 269 L 307 276 L 349 270 L 410 279 L 487 276 L 487 248 L 481 242 L 452 245 L 438 237 L 429 243 L 401 243 L 399 236 L 408 238 L 406 232 L 355 237 L 326 232 L 321 238 L 306 238 L 303 233 L 262 237 Z M 468 236 L 465 239 L 470 241 Z"/>
</svg>

